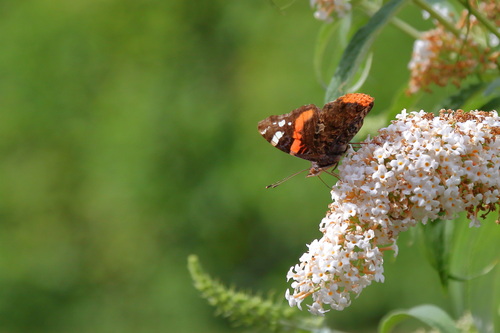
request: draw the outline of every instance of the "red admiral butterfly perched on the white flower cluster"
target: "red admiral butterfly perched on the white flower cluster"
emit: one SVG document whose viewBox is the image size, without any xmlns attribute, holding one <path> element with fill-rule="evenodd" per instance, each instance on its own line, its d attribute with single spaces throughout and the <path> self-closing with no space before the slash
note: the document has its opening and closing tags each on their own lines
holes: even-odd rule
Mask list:
<svg viewBox="0 0 500 333">
<path fill-rule="evenodd" d="M 338 165 L 372 107 L 373 98 L 369 95 L 349 93 L 325 104 L 323 109 L 309 104 L 290 113 L 270 116 L 258 123 L 258 131 L 274 147 L 311 161 L 305 177 L 318 176 Z M 275 184 L 269 186 L 279 185 Z"/>
</svg>

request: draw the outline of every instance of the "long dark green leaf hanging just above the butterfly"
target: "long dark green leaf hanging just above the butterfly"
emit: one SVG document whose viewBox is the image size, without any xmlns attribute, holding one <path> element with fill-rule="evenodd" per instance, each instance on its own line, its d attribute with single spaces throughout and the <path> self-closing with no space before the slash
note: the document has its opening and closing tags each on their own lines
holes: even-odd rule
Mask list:
<svg viewBox="0 0 500 333">
<path fill-rule="evenodd" d="M 324 102 L 335 100 L 350 87 L 359 64 L 364 59 L 373 40 L 391 17 L 408 0 L 390 0 L 385 3 L 369 21 L 352 36 L 326 90 Z"/>
</svg>

